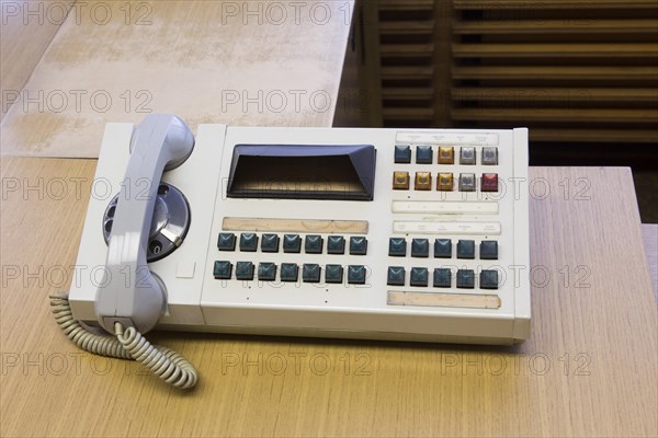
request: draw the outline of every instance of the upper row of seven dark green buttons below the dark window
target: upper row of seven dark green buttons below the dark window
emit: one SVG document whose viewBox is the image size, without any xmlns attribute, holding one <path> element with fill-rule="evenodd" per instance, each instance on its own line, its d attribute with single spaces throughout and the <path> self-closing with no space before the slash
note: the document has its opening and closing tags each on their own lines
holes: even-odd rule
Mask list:
<svg viewBox="0 0 658 438">
<path fill-rule="evenodd" d="M 261 251 L 263 253 L 279 252 L 280 241 L 279 234 L 263 233 L 261 241 Z M 219 251 L 235 251 L 237 238 L 231 232 L 222 232 L 217 238 L 217 249 Z M 257 233 L 240 233 L 240 251 L 254 252 L 258 249 L 259 237 Z M 306 254 L 321 254 L 325 240 L 319 234 L 308 234 L 304 238 L 304 252 Z M 283 252 L 299 253 L 302 252 L 302 238 L 299 234 L 283 235 Z M 367 239 L 362 235 L 350 238 L 349 251 L 351 255 L 365 255 L 367 252 Z M 342 235 L 327 237 L 327 254 L 344 254 L 345 238 Z"/>
</svg>

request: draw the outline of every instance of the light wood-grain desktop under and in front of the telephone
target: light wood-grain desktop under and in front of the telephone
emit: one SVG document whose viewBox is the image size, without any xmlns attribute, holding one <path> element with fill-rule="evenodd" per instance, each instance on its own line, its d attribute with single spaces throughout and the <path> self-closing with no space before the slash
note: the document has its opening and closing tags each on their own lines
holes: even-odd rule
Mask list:
<svg viewBox="0 0 658 438">
<path fill-rule="evenodd" d="M 524 345 L 151 334 L 197 367 L 182 393 L 77 350 L 52 319 L 94 166 L 2 159 L 23 185 L 0 210 L 2 436 L 658 435 L 657 310 L 627 169 L 532 169 Z"/>
</svg>

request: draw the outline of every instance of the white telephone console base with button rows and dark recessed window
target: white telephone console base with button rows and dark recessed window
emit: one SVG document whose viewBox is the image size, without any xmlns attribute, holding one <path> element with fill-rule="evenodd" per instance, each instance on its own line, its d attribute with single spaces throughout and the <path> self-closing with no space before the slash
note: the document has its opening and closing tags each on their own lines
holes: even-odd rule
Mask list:
<svg viewBox="0 0 658 438">
<path fill-rule="evenodd" d="M 184 161 L 152 181 L 127 176 L 135 131 L 105 129 L 69 292 L 77 320 L 122 316 L 99 319 L 110 302 L 99 299 L 123 306 L 105 288 L 143 293 L 139 264 L 110 269 L 107 260 L 121 255 L 118 221 L 155 184 L 137 245 L 150 273 L 144 293 L 163 290 L 155 328 L 529 338 L 526 129 L 200 125 Z"/>
</svg>

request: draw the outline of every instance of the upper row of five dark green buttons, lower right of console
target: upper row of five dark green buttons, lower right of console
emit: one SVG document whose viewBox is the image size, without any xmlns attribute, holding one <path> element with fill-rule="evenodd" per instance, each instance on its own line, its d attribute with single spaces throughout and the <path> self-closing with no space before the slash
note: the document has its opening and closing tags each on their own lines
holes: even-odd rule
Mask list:
<svg viewBox="0 0 658 438">
<path fill-rule="evenodd" d="M 475 258 L 475 241 L 460 240 L 457 242 L 457 258 Z M 405 238 L 390 238 L 388 240 L 388 255 L 395 257 L 404 257 L 407 255 L 407 240 Z M 411 240 L 411 256 L 412 257 L 429 257 L 430 241 L 429 239 L 412 239 Z M 450 258 L 452 257 L 452 240 L 435 239 L 434 240 L 434 257 Z M 479 257 L 481 260 L 498 260 L 498 242 L 495 240 L 483 240 L 479 244 Z"/>
</svg>

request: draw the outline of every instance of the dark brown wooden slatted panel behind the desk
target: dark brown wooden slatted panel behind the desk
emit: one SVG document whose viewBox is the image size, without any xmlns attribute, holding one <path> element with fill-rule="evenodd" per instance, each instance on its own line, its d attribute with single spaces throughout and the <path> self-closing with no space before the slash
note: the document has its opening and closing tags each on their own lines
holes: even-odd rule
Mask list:
<svg viewBox="0 0 658 438">
<path fill-rule="evenodd" d="M 365 3 L 377 10 L 383 126 L 658 143 L 655 0 Z"/>
</svg>

